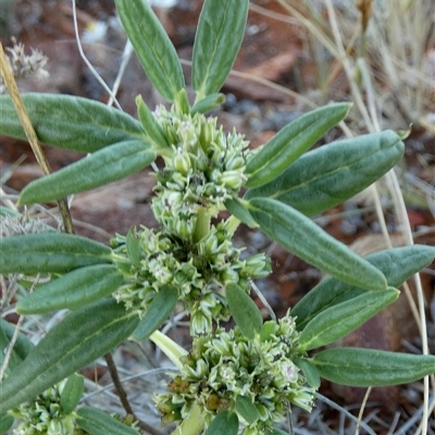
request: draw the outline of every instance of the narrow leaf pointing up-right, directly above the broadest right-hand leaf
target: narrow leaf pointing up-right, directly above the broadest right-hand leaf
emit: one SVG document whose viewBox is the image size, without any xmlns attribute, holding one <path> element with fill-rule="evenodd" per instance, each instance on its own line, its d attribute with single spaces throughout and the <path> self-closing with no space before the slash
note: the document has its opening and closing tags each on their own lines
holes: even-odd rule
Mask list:
<svg viewBox="0 0 435 435">
<path fill-rule="evenodd" d="M 349 112 L 349 103 L 315 109 L 281 129 L 246 165 L 248 187 L 259 187 L 278 177 Z"/>
</svg>

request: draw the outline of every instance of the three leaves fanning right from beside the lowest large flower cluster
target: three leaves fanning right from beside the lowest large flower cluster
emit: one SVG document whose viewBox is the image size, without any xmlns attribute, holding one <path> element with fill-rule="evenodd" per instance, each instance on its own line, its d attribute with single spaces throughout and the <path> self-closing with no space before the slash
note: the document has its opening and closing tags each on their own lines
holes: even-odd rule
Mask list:
<svg viewBox="0 0 435 435">
<path fill-rule="evenodd" d="M 366 257 L 395 287 L 434 259 L 435 248 L 419 245 L 387 249 Z M 291 310 L 297 328 L 301 331 L 301 348 L 309 350 L 335 341 L 396 297 L 394 288 L 366 291 L 334 277 L 324 279 Z M 405 384 L 435 372 L 433 356 L 359 348 L 323 350 L 297 364 L 311 382 L 315 382 L 315 376 L 322 376 L 337 384 L 359 387 Z"/>
</svg>

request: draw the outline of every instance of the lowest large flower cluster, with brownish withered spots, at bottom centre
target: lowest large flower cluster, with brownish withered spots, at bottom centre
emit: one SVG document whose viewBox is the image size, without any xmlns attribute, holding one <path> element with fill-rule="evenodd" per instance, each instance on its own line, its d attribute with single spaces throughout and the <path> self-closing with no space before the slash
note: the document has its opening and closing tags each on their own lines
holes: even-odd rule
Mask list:
<svg viewBox="0 0 435 435">
<path fill-rule="evenodd" d="M 186 419 L 198 405 L 207 423 L 223 410 L 237 412 L 245 422 L 244 435 L 259 434 L 283 420 L 290 403 L 311 411 L 314 388 L 307 386 L 295 365 L 304 356 L 298 349 L 299 333 L 289 313 L 278 323 L 266 322 L 253 340 L 238 327 L 195 338 L 190 353 L 182 359 L 181 373 L 169 383 L 170 393 L 156 396 L 163 423 Z M 248 398 L 258 418 L 248 424 L 236 406 Z"/>
</svg>

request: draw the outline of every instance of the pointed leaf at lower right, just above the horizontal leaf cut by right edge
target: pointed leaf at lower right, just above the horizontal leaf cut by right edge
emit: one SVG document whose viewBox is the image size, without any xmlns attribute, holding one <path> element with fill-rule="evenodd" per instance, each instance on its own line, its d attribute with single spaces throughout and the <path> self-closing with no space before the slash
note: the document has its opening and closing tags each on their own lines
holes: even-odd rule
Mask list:
<svg viewBox="0 0 435 435">
<path fill-rule="evenodd" d="M 351 300 L 334 304 L 307 324 L 299 336 L 300 348 L 316 349 L 344 337 L 393 303 L 399 295 L 399 290 L 389 287 L 383 291 L 365 291 Z"/>
</svg>

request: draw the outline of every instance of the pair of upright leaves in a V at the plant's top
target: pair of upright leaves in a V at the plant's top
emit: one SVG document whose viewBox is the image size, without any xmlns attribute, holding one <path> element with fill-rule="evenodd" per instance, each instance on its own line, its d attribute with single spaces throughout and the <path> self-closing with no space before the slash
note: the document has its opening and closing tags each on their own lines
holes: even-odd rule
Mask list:
<svg viewBox="0 0 435 435">
<path fill-rule="evenodd" d="M 151 7 L 146 0 L 115 0 L 115 4 L 149 79 L 162 97 L 176 101 L 185 86 L 182 64 Z M 216 94 L 229 74 L 244 37 L 248 4 L 247 0 L 204 1 L 191 66 L 197 102 Z"/>
</svg>

